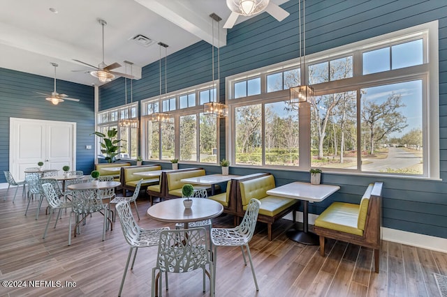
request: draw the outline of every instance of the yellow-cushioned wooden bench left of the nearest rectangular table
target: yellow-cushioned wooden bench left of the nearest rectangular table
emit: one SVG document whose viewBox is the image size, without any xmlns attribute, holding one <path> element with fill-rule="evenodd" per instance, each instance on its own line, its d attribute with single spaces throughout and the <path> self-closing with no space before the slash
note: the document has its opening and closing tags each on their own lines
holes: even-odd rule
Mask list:
<svg viewBox="0 0 447 297">
<path fill-rule="evenodd" d="M 261 176 L 242 176 L 245 178 L 237 181 L 236 201 L 237 215 L 242 217 L 247 209 L 251 198 L 261 201 L 259 208 L 258 221 L 267 223 L 268 240 L 272 240 L 272 224 L 292 212 L 293 222 L 296 221 L 296 211 L 300 206 L 300 201 L 291 198 L 276 197 L 268 195 L 266 192 L 275 188 L 274 177 L 272 174 L 263 174 Z"/>
</svg>

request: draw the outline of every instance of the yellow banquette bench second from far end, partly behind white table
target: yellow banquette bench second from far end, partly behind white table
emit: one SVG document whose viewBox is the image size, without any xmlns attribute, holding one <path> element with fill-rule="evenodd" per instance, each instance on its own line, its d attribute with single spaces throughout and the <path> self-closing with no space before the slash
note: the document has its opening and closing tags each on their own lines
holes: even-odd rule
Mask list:
<svg viewBox="0 0 447 297">
<path fill-rule="evenodd" d="M 152 170 L 161 170 L 160 165 L 141 165 L 141 166 L 126 166 L 121 168 L 121 185 L 123 187 L 123 195 L 126 196 L 126 190 L 135 190 L 135 186 L 142 178 L 136 176 L 136 172 L 149 172 Z M 159 183 L 159 177 L 155 178 L 143 178 L 141 183 L 141 189 L 146 189 L 149 185 L 155 185 Z"/>
</svg>

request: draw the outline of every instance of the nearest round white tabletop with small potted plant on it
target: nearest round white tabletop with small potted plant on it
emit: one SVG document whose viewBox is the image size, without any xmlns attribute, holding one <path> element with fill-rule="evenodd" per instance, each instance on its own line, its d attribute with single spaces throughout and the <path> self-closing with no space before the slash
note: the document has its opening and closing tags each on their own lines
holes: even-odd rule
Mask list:
<svg viewBox="0 0 447 297">
<path fill-rule="evenodd" d="M 217 201 L 205 198 L 189 198 L 193 200 L 191 209 L 184 208 L 183 200 L 175 198 L 161 201 L 147 209 L 147 215 L 160 222 L 197 222 L 216 218 L 223 212 L 223 206 Z"/>
</svg>

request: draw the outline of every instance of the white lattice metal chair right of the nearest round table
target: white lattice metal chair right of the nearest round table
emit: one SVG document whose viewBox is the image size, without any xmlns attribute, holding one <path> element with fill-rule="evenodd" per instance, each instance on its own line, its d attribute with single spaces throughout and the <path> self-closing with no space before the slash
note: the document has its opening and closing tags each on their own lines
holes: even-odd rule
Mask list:
<svg viewBox="0 0 447 297">
<path fill-rule="evenodd" d="M 229 229 L 224 228 L 212 228 L 211 229 L 211 241 L 214 245 L 214 282 L 216 277 L 217 266 L 217 247 L 218 246 L 240 246 L 242 250 L 242 257 L 244 257 L 244 264 L 247 266 L 247 260 L 245 259 L 244 247 L 247 248 L 247 254 L 249 256 L 251 273 L 253 274 L 254 284 L 256 291 L 259 291 L 258 282 L 256 281 L 256 275 L 254 273 L 253 261 L 251 260 L 251 253 L 249 248 L 249 241 L 254 234 L 256 227 L 256 220 L 258 219 L 259 207 L 261 201 L 258 199 L 250 199 L 245 211 L 244 218 L 239 226 Z"/>
</svg>

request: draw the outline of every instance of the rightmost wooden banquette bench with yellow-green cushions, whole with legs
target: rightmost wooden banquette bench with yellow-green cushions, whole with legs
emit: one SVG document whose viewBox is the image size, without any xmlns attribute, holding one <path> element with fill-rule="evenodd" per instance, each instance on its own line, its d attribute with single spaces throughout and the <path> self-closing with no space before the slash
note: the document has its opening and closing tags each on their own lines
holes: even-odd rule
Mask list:
<svg viewBox="0 0 447 297">
<path fill-rule="evenodd" d="M 314 232 L 320 236 L 321 256 L 326 237 L 372 248 L 375 271 L 379 273 L 382 186 L 382 182 L 371 183 L 360 204 L 333 202 L 316 218 Z"/>
</svg>

